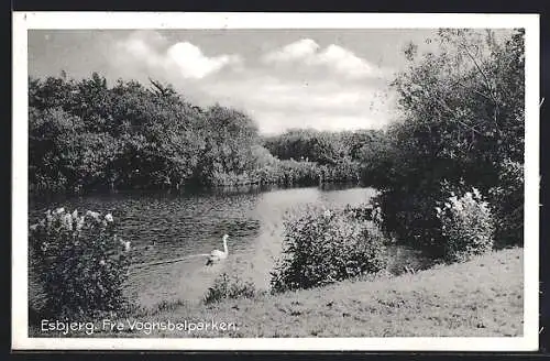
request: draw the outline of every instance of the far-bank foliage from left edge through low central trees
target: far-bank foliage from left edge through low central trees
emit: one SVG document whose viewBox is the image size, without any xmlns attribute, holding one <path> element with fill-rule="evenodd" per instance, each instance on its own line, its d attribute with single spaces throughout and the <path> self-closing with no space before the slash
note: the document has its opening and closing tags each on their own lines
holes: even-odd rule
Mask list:
<svg viewBox="0 0 550 361">
<path fill-rule="evenodd" d="M 194 106 L 154 80 L 108 87 L 95 73 L 29 81 L 33 189 L 358 182 L 371 135 L 308 130 L 262 139 L 245 113 Z"/>
</svg>

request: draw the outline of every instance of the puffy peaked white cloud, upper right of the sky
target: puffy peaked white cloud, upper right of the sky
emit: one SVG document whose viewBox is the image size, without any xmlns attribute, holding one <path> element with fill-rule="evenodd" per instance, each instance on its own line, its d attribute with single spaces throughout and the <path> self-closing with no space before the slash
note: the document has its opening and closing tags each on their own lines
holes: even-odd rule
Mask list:
<svg viewBox="0 0 550 361">
<path fill-rule="evenodd" d="M 302 39 L 264 54 L 264 64 L 324 66 L 349 78 L 381 77 L 384 70 L 356 56 L 353 52 L 331 44 L 321 50 L 311 39 Z"/>
</svg>

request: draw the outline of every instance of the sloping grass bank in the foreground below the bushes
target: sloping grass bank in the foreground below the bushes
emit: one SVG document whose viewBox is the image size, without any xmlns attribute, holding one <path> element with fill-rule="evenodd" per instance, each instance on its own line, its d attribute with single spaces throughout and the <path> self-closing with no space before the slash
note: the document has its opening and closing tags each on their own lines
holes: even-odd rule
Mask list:
<svg viewBox="0 0 550 361">
<path fill-rule="evenodd" d="M 95 337 L 480 337 L 521 336 L 522 249 L 393 278 L 261 294 L 211 305 L 164 303 L 121 319 L 120 332 Z M 131 331 L 133 321 L 234 324 L 222 329 Z M 33 333 L 33 332 L 32 332 Z M 31 333 L 31 335 L 32 335 Z M 36 330 L 34 331 L 35 336 Z M 40 332 L 38 332 L 40 333 Z M 72 333 L 78 336 L 77 333 Z M 48 335 L 54 336 L 54 335 Z M 82 335 L 80 335 L 82 336 Z"/>
</svg>

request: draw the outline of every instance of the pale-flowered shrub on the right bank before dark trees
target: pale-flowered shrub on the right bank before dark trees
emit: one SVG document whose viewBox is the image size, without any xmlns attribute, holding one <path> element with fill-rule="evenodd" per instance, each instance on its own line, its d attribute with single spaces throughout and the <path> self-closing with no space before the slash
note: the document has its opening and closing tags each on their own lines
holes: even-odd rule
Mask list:
<svg viewBox="0 0 550 361">
<path fill-rule="evenodd" d="M 493 249 L 494 221 L 491 208 L 476 188 L 458 197 L 451 193 L 436 207 L 441 222 L 443 259 L 464 262 Z"/>
</svg>

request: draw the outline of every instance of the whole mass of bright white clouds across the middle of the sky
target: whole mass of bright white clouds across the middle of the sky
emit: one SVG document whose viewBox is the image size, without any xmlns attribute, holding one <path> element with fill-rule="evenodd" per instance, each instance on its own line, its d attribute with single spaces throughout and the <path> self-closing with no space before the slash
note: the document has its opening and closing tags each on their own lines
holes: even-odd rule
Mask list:
<svg viewBox="0 0 550 361">
<path fill-rule="evenodd" d="M 388 121 L 380 96 L 384 81 L 373 78 L 377 68 L 344 47 L 321 48 L 304 39 L 244 67 L 232 55 L 237 51 L 207 55 L 198 44 L 138 32 L 119 43 L 111 64 L 131 78 L 170 83 L 194 103 L 241 109 L 262 132 L 380 128 Z"/>
</svg>

